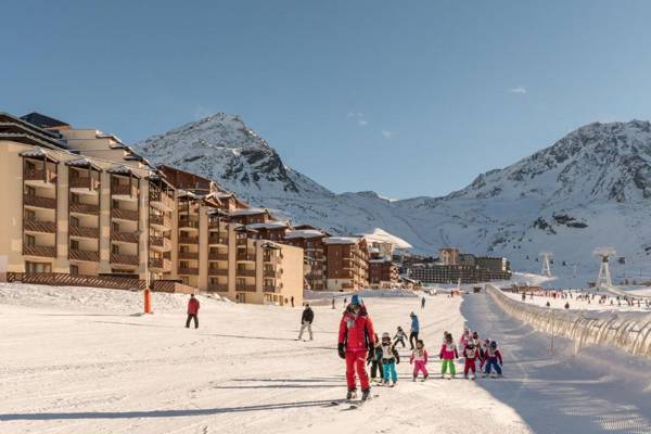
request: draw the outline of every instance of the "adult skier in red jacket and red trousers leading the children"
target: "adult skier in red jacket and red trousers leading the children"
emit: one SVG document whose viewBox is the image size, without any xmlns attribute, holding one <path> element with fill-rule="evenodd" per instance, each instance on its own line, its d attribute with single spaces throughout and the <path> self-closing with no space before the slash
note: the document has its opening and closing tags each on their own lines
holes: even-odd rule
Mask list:
<svg viewBox="0 0 651 434">
<path fill-rule="evenodd" d="M 340 322 L 337 350 L 342 359 L 346 360 L 346 382 L 348 394 L 346 399 L 352 399 L 357 392 L 356 374 L 361 385 L 361 399 L 366 400 L 371 392 L 369 375 L 366 371 L 366 357 L 375 343 L 373 321 L 369 317 L 359 295 L 353 295 L 350 304 L 344 311 Z"/>
</svg>

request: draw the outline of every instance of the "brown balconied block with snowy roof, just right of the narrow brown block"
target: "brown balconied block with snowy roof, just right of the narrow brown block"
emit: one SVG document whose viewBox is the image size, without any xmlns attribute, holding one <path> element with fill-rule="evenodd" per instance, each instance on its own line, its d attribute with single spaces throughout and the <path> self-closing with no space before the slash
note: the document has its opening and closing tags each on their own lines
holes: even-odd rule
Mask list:
<svg viewBox="0 0 651 434">
<path fill-rule="evenodd" d="M 355 291 L 369 288 L 369 251 L 363 238 L 327 237 L 326 288 L 328 291 Z"/>
</svg>

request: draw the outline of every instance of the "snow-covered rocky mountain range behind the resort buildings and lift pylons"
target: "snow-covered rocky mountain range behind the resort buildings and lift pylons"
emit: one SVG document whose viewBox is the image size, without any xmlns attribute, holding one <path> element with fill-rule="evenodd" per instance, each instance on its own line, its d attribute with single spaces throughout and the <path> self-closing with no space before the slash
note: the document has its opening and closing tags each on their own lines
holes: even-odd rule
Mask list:
<svg viewBox="0 0 651 434">
<path fill-rule="evenodd" d="M 155 163 L 213 178 L 253 205 L 333 233 L 382 228 L 417 253 L 454 245 L 503 255 L 526 271 L 538 271 L 538 253 L 550 251 L 558 273 L 570 277 L 573 265 L 578 275 L 596 273 L 592 250 L 613 246 L 626 257 L 625 266 L 614 266 L 615 275 L 651 276 L 648 122 L 589 124 L 511 166 L 480 175 L 460 191 L 398 201 L 369 191 L 331 192 L 285 166 L 241 117 L 224 113 L 138 148 Z"/>
</svg>

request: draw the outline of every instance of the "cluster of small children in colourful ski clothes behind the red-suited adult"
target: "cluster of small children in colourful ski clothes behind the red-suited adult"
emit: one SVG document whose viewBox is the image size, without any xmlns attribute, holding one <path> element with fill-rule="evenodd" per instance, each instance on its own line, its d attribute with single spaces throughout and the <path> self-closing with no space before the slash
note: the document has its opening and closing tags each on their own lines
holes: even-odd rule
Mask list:
<svg viewBox="0 0 651 434">
<path fill-rule="evenodd" d="M 400 362 L 397 344 L 403 343 L 403 347 L 405 347 L 404 339 L 405 332 L 400 327 L 398 327 L 393 340 L 386 332 L 382 333 L 382 340 L 379 340 L 375 334 L 375 346 L 369 350 L 367 358 L 368 365 L 371 365 L 371 380 L 380 381 L 390 387 L 396 384 L 398 381 L 396 365 Z M 480 372 L 483 370 L 483 376 L 497 378 L 502 375 L 502 356 L 497 347 L 497 342 L 487 339 L 482 341 L 477 332 L 471 333 L 468 329 L 463 330 L 459 346 L 455 344 L 451 333 L 444 332 L 443 344 L 438 353 L 438 358 L 442 360 L 442 379 L 446 375 L 448 375 L 448 380 L 456 376 L 455 360 L 460 357 L 464 359 L 464 379 L 468 379 L 469 374 L 472 380 L 476 378 L 477 363 Z M 422 374 L 422 381 L 427 379 L 427 362 L 429 354 L 425 345 L 422 340 L 418 340 L 409 358 L 409 363 L 413 365 L 413 381 L 417 381 L 420 374 Z"/>
</svg>

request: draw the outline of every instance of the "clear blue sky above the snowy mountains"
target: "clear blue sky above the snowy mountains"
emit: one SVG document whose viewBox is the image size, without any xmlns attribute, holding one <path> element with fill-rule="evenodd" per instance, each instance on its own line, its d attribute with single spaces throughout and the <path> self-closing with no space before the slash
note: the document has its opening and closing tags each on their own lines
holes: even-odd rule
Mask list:
<svg viewBox="0 0 651 434">
<path fill-rule="evenodd" d="M 135 142 L 241 114 L 335 192 L 442 195 L 651 118 L 648 1 L 14 1 L 0 111 Z"/>
</svg>

